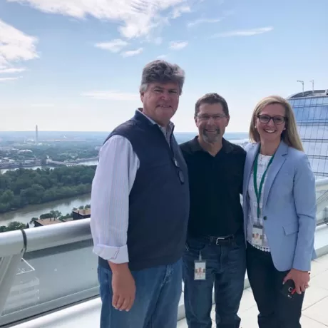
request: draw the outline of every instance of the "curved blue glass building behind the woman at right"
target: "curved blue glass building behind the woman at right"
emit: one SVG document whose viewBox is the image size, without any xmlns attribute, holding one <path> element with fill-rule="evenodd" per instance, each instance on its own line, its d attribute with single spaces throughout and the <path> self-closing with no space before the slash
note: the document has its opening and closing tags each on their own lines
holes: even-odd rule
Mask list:
<svg viewBox="0 0 328 328">
<path fill-rule="evenodd" d="M 328 177 L 328 90 L 296 93 L 287 98 L 296 116 L 304 151 L 316 179 Z"/>
</svg>

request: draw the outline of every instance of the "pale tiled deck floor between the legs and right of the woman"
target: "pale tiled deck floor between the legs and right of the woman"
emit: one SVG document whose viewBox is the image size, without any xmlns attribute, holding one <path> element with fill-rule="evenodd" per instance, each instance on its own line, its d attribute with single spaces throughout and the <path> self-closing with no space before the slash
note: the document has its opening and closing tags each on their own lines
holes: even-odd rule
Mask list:
<svg viewBox="0 0 328 328">
<path fill-rule="evenodd" d="M 247 288 L 242 295 L 240 318 L 242 328 L 256 328 L 257 306 L 252 290 Z M 215 327 L 215 310 L 212 308 L 213 328 Z M 312 262 L 310 287 L 304 297 L 302 328 L 328 327 L 328 255 L 319 257 Z M 178 328 L 188 328 L 185 319 L 178 322 Z"/>
</svg>

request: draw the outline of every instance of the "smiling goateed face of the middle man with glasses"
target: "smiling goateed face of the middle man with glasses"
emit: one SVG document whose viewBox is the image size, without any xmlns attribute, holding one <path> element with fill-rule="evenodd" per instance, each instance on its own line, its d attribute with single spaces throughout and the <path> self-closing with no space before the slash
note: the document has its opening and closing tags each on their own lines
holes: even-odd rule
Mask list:
<svg viewBox="0 0 328 328">
<path fill-rule="evenodd" d="M 222 135 L 229 123 L 220 103 L 202 103 L 195 118 L 200 138 L 206 143 L 221 142 Z"/>
</svg>

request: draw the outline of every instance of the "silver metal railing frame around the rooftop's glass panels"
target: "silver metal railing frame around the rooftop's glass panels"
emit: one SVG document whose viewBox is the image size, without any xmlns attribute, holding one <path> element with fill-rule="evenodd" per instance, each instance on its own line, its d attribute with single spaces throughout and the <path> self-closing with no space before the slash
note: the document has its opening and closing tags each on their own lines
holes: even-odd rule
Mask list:
<svg viewBox="0 0 328 328">
<path fill-rule="evenodd" d="M 319 226 L 328 224 L 327 215 L 325 215 L 325 209 L 328 207 L 328 178 L 317 180 L 316 190 L 317 215 L 320 213 L 320 217 L 317 218 Z M 0 233 L 0 326 L 13 324 L 13 322 L 43 315 L 46 312 L 97 297 L 98 287 L 92 287 L 1 316 L 24 255 L 51 247 L 91 240 L 91 238 L 90 219 Z M 82 262 L 83 259 L 81 259 L 81 264 Z M 83 270 L 82 265 L 81 270 Z"/>
</svg>

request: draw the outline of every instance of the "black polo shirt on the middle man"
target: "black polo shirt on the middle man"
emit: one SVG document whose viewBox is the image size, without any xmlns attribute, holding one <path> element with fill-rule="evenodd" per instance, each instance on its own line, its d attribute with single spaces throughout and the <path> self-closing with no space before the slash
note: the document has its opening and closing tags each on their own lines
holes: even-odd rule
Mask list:
<svg viewBox="0 0 328 328">
<path fill-rule="evenodd" d="M 240 203 L 246 152 L 222 139 L 222 148 L 212 156 L 201 148 L 198 137 L 180 145 L 188 165 L 190 217 L 193 237 L 232 235 L 242 228 Z"/>
</svg>

